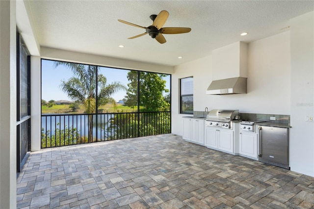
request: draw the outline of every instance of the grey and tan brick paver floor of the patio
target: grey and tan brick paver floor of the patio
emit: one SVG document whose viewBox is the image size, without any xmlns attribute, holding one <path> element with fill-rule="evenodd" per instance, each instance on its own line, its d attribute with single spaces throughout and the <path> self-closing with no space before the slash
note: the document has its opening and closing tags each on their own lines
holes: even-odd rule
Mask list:
<svg viewBox="0 0 314 209">
<path fill-rule="evenodd" d="M 165 134 L 45 149 L 17 179 L 17 208 L 314 207 L 314 178 Z"/>
</svg>

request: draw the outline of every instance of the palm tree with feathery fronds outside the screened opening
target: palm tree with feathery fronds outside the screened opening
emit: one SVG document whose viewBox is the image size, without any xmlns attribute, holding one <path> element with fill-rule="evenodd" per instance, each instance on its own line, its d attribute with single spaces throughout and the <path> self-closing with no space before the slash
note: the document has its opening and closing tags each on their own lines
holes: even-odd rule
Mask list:
<svg viewBox="0 0 314 209">
<path fill-rule="evenodd" d="M 93 115 L 97 107 L 116 101 L 111 97 L 119 90 L 126 90 L 120 82 L 107 84 L 104 75 L 98 74 L 98 67 L 94 65 L 83 65 L 70 62 L 55 61 L 54 67 L 63 65 L 72 70 L 74 77 L 69 80 L 61 80 L 60 88 L 73 101 L 80 101 L 84 105 L 85 113 L 88 115 L 88 142 L 93 141 Z M 97 81 L 96 81 L 97 78 Z M 97 87 L 97 92 L 96 92 Z M 97 96 L 96 96 L 97 94 Z"/>
</svg>

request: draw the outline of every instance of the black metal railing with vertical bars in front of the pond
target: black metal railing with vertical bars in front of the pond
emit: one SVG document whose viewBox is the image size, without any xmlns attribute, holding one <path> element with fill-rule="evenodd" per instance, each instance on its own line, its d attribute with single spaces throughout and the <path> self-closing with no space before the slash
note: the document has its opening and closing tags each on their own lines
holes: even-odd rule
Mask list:
<svg viewBox="0 0 314 209">
<path fill-rule="evenodd" d="M 41 116 L 41 148 L 170 132 L 170 111 Z"/>
</svg>

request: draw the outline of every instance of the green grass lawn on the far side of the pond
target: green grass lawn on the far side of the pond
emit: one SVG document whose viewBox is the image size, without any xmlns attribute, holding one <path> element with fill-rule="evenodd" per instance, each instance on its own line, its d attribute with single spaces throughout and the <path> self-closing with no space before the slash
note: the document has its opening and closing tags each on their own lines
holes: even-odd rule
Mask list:
<svg viewBox="0 0 314 209">
<path fill-rule="evenodd" d="M 99 112 L 134 112 L 135 109 L 129 107 L 129 106 L 123 106 L 122 104 L 117 104 L 117 108 L 115 109 L 112 104 L 106 104 L 103 106 L 100 106 L 98 108 Z M 76 112 L 72 112 L 72 110 L 69 107 L 69 104 L 54 104 L 52 107 L 48 107 L 46 105 L 41 106 L 41 113 L 42 114 L 62 114 L 62 113 L 68 113 L 68 114 L 78 114 L 78 113 L 84 113 L 84 108 L 80 106 L 80 108 Z"/>
</svg>

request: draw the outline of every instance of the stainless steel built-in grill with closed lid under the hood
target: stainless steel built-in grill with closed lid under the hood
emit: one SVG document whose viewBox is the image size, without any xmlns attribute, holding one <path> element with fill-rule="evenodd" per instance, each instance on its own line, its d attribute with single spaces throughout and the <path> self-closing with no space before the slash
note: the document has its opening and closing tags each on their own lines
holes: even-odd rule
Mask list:
<svg viewBox="0 0 314 209">
<path fill-rule="evenodd" d="M 239 120 L 239 110 L 212 109 L 206 117 L 206 126 L 232 129 L 232 121 Z"/>
</svg>

